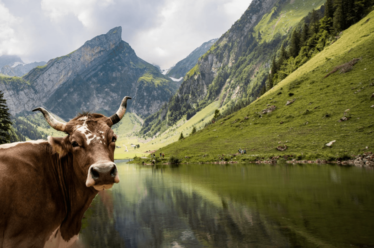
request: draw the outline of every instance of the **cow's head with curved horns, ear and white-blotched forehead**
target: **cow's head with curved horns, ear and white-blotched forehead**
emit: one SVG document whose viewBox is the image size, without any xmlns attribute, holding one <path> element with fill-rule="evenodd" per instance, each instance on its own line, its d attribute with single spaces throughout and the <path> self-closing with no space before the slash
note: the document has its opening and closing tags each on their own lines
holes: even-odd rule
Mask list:
<svg viewBox="0 0 374 248">
<path fill-rule="evenodd" d="M 65 132 L 65 137 L 48 137 L 53 151 L 59 153 L 59 158 L 67 154 L 73 155 L 74 172 L 79 179 L 85 180 L 86 186 L 96 190 L 110 189 L 119 182 L 116 164 L 114 164 L 114 149 L 117 136 L 110 128 L 118 123 L 126 112 L 125 96 L 116 114 L 105 117 L 101 114 L 84 113 L 68 123 L 56 120 L 44 108 L 36 108 L 43 113 L 51 127 Z"/>
</svg>

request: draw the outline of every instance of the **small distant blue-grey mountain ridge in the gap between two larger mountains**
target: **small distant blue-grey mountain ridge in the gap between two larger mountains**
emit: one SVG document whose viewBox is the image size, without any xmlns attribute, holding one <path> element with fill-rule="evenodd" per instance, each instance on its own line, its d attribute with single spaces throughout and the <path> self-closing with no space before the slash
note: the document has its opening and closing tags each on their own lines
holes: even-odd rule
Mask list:
<svg viewBox="0 0 374 248">
<path fill-rule="evenodd" d="M 166 73 L 166 76 L 179 79 L 184 77 L 186 73 L 196 65 L 199 58 L 206 53 L 209 48 L 218 40 L 212 39 L 204 42 L 200 47 L 193 50 L 186 58 L 179 61 Z"/>
</svg>

